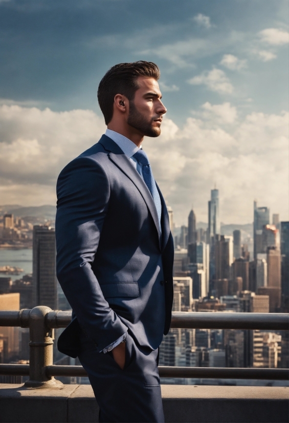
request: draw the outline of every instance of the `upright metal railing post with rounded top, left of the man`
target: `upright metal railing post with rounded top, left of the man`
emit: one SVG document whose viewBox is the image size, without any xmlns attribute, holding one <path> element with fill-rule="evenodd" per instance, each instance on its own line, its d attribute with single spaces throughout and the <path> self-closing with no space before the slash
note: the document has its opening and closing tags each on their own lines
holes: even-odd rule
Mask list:
<svg viewBox="0 0 289 423">
<path fill-rule="evenodd" d="M 46 315 L 51 308 L 34 307 L 29 314 L 30 361 L 27 388 L 62 388 L 63 384 L 47 376 L 46 367 L 53 364 L 53 329 L 47 327 Z"/>
</svg>

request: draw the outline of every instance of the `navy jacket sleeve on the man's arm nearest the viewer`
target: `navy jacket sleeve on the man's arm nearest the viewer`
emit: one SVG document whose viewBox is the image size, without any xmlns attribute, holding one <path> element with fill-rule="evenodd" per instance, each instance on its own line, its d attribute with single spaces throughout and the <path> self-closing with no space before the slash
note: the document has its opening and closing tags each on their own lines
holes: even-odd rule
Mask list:
<svg viewBox="0 0 289 423">
<path fill-rule="evenodd" d="M 105 171 L 88 157 L 79 157 L 69 163 L 57 181 L 57 279 L 79 325 L 98 351 L 127 331 L 104 299 L 91 268 L 109 194 Z"/>
</svg>

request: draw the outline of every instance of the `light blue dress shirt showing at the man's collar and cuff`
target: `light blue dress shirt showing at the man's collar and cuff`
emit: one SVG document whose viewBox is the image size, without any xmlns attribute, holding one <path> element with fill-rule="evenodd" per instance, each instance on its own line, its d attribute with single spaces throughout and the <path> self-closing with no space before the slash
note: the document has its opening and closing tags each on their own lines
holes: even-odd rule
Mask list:
<svg viewBox="0 0 289 423">
<path fill-rule="evenodd" d="M 110 139 L 112 139 L 113 141 L 115 141 L 115 143 L 120 147 L 120 149 L 124 152 L 126 157 L 129 159 L 132 166 L 134 166 L 136 168 L 138 173 L 143 178 L 143 172 L 142 172 L 143 165 L 141 163 L 139 163 L 135 157 L 133 157 L 134 154 L 136 154 L 137 151 L 139 150 L 139 147 L 134 142 L 132 142 L 130 139 L 126 138 L 124 135 L 121 135 L 118 132 L 112 131 L 110 129 L 107 129 L 105 131 L 105 135 L 107 137 L 109 137 Z M 158 216 L 158 217 L 159 217 L 159 224 L 160 224 L 160 228 L 161 228 L 161 216 Z M 115 342 L 113 342 L 112 344 L 110 344 L 106 348 L 104 348 L 102 350 L 102 352 L 105 354 L 108 351 L 112 351 L 121 342 L 125 341 L 125 339 L 126 339 L 126 333 L 124 333 L 122 336 L 120 336 L 118 340 L 116 340 Z"/>
</svg>

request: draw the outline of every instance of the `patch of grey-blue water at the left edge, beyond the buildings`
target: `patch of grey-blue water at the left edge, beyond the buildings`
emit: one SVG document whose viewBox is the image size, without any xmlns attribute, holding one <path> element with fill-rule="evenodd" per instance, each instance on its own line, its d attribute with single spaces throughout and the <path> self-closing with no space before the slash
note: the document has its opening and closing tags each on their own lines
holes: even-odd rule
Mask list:
<svg viewBox="0 0 289 423">
<path fill-rule="evenodd" d="M 12 281 L 23 278 L 25 274 L 32 273 L 32 249 L 0 250 L 0 266 L 20 267 L 24 270 L 20 274 L 0 273 L 0 278 L 10 276 Z"/>
</svg>

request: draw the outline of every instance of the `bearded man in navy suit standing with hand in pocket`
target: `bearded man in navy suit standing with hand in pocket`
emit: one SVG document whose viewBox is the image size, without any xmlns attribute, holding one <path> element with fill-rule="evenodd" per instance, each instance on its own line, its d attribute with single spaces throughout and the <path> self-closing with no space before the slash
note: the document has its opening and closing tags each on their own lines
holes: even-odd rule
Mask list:
<svg viewBox="0 0 289 423">
<path fill-rule="evenodd" d="M 162 422 L 158 352 L 171 321 L 173 240 L 144 136 L 166 108 L 152 62 L 102 78 L 107 131 L 57 181 L 57 278 L 73 309 L 60 351 L 79 357 L 103 422 Z"/>
</svg>

